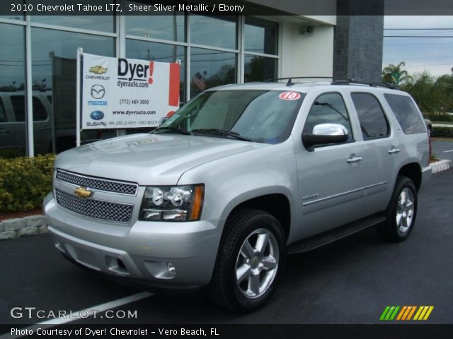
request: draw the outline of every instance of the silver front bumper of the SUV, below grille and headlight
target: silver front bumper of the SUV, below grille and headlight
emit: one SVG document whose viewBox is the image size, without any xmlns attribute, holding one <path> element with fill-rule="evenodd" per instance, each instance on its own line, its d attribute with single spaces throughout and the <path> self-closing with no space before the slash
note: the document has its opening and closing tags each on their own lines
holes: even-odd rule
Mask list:
<svg viewBox="0 0 453 339">
<path fill-rule="evenodd" d="M 57 205 L 52 194 L 44 200 L 44 213 L 57 249 L 83 266 L 156 287 L 210 282 L 222 233 L 219 220 L 137 221 L 131 227 L 73 213 Z"/>
</svg>

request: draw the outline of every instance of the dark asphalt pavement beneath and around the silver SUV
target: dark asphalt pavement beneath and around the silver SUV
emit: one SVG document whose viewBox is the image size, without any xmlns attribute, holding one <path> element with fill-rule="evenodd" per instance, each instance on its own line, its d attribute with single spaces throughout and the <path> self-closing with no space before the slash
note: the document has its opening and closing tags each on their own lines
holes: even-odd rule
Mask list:
<svg viewBox="0 0 453 339">
<path fill-rule="evenodd" d="M 435 148 L 444 147 L 435 142 Z M 145 295 L 115 308 L 136 317 L 100 312 L 74 323 L 382 323 L 388 305 L 430 305 L 425 323 L 453 323 L 453 170 L 435 174 L 420 193 L 411 237 L 382 242 L 369 229 L 321 249 L 289 256 L 277 294 L 264 309 L 238 315 L 212 304 L 203 290 Z M 125 287 L 79 268 L 54 248 L 50 236 L 0 242 L 0 323 L 32 324 L 58 311 L 99 305 L 143 290 Z M 21 318 L 11 309 L 20 307 Z M 25 307 L 35 308 L 28 319 Z M 16 314 L 17 316 L 17 314 Z"/>
</svg>

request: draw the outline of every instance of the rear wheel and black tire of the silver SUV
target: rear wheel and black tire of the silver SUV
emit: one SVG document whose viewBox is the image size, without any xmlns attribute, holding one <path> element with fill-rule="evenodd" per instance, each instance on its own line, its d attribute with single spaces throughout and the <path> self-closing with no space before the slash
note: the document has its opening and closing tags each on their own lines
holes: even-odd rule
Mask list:
<svg viewBox="0 0 453 339">
<path fill-rule="evenodd" d="M 376 230 L 387 242 L 402 242 L 409 237 L 417 215 L 417 189 L 408 177 L 398 177 L 386 209 L 387 220 Z"/>
</svg>

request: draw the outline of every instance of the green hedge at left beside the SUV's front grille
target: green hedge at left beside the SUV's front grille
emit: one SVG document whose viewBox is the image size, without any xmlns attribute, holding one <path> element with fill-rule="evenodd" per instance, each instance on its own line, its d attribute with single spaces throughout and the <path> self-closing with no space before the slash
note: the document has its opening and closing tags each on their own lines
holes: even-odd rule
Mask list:
<svg viewBox="0 0 453 339">
<path fill-rule="evenodd" d="M 39 208 L 52 191 L 55 155 L 0 158 L 0 212 Z"/>
</svg>

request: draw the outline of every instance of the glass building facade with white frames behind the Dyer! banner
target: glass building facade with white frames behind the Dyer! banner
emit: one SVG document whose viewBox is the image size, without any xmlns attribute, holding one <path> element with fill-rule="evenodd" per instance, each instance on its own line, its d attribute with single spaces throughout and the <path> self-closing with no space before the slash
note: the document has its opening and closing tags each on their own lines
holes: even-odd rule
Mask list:
<svg viewBox="0 0 453 339">
<path fill-rule="evenodd" d="M 137 3 L 138 4 L 138 3 Z M 0 157 L 75 146 L 76 51 L 180 61 L 180 102 L 277 76 L 279 23 L 248 16 L 0 16 Z M 81 133 L 82 143 L 137 130 Z"/>
</svg>

